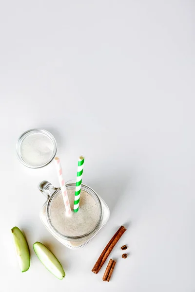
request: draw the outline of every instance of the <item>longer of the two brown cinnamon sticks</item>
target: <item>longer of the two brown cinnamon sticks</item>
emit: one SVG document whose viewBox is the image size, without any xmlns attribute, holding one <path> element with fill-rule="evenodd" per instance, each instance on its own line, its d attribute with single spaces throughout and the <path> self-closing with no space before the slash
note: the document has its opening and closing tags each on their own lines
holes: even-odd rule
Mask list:
<svg viewBox="0 0 195 292">
<path fill-rule="evenodd" d="M 99 270 L 101 269 L 101 267 L 105 263 L 106 259 L 108 258 L 108 256 L 112 252 L 114 246 L 116 245 L 116 243 L 118 242 L 118 240 L 120 239 L 120 237 L 123 235 L 123 233 L 125 231 L 126 231 L 126 228 L 124 228 L 124 226 L 120 226 L 120 228 L 117 230 L 115 235 L 108 242 L 108 244 L 104 248 L 103 252 L 99 256 L 97 262 L 95 263 L 95 265 L 94 265 L 94 267 L 92 269 L 92 272 L 94 274 L 98 274 Z"/>
</svg>

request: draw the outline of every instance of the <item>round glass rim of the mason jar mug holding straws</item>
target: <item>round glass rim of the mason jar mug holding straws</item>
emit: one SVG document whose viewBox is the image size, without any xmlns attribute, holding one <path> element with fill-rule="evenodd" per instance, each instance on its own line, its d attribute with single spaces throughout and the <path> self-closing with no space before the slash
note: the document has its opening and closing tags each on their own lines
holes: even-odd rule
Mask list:
<svg viewBox="0 0 195 292">
<path fill-rule="evenodd" d="M 73 186 L 76 187 L 76 183 L 68 183 L 68 184 L 66 184 L 66 188 L 67 188 L 67 189 L 70 189 L 70 188 L 72 188 Z M 49 216 L 49 208 L 50 208 L 50 204 L 51 204 L 51 202 L 53 201 L 54 197 L 55 197 L 56 195 L 58 195 L 58 194 L 61 192 L 60 188 L 58 188 L 58 189 L 52 194 L 52 196 L 48 199 L 47 204 L 46 204 L 46 212 L 45 212 L 45 214 L 46 214 L 46 219 L 47 219 L 47 222 L 48 222 L 49 226 L 55 231 L 55 233 L 56 233 L 59 237 L 61 237 L 61 238 L 63 238 L 63 239 L 66 239 L 66 240 L 70 240 L 70 241 L 71 241 L 71 240 L 74 240 L 74 241 L 80 241 L 80 240 L 82 240 L 82 239 L 85 239 L 86 237 L 91 237 L 91 236 L 97 231 L 98 227 L 99 227 L 100 224 L 101 224 L 101 220 L 102 220 L 102 214 L 103 214 L 103 212 L 102 212 L 102 206 L 101 206 L 101 202 L 100 202 L 100 200 L 99 200 L 98 194 L 97 194 L 97 193 L 96 193 L 91 187 L 89 187 L 88 185 L 83 184 L 83 183 L 82 183 L 82 185 L 81 185 L 81 189 L 85 190 L 88 194 L 90 194 L 91 196 L 93 196 L 93 198 L 95 198 L 96 201 L 98 202 L 98 206 L 99 206 L 99 218 L 98 218 L 97 224 L 96 224 L 96 226 L 94 227 L 94 229 L 93 229 L 92 231 L 90 231 L 90 232 L 88 232 L 88 233 L 86 233 L 86 234 L 83 234 L 83 235 L 81 235 L 81 236 L 66 236 L 66 235 L 60 233 L 60 232 L 54 227 L 54 225 L 52 224 L 52 222 L 51 222 L 51 218 L 50 218 L 50 216 Z"/>
</svg>

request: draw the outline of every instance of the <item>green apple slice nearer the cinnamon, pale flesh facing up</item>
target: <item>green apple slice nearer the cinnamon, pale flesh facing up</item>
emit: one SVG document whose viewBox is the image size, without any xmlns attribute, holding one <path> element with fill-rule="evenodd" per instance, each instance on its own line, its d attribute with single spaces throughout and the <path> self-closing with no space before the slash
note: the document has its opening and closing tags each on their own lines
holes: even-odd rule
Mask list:
<svg viewBox="0 0 195 292">
<path fill-rule="evenodd" d="M 58 279 L 65 277 L 65 272 L 56 256 L 42 243 L 33 244 L 34 251 L 45 268 Z"/>
</svg>

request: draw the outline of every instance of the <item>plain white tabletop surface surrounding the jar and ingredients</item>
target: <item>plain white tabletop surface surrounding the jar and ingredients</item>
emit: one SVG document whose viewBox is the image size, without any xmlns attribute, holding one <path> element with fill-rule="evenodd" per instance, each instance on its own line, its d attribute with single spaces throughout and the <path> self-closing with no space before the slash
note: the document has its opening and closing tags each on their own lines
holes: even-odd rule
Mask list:
<svg viewBox="0 0 195 292">
<path fill-rule="evenodd" d="M 0 4 L 0 292 L 195 292 L 195 2 L 7 0 Z M 29 128 L 54 134 L 66 180 L 86 157 L 85 183 L 111 217 L 85 248 L 63 247 L 39 220 L 39 181 L 15 144 Z M 124 224 L 110 283 L 91 272 Z M 10 229 L 32 253 L 20 273 Z M 41 241 L 64 266 L 39 262 Z M 120 246 L 129 257 L 121 259 Z M 106 262 L 107 263 L 107 262 Z"/>
</svg>

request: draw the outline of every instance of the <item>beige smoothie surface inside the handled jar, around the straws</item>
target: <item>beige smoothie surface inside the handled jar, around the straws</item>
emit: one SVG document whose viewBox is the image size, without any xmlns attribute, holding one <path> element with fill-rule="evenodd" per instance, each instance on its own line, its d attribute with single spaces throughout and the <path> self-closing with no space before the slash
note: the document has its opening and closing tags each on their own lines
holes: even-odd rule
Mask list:
<svg viewBox="0 0 195 292">
<path fill-rule="evenodd" d="M 71 209 L 74 207 L 75 189 L 69 189 L 68 198 Z M 78 212 L 67 216 L 62 195 L 59 194 L 52 202 L 50 218 L 53 226 L 63 235 L 76 237 L 91 232 L 98 223 L 99 208 L 94 198 L 81 190 Z"/>
</svg>

